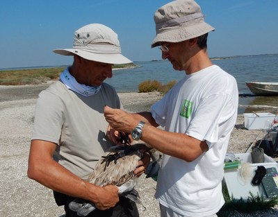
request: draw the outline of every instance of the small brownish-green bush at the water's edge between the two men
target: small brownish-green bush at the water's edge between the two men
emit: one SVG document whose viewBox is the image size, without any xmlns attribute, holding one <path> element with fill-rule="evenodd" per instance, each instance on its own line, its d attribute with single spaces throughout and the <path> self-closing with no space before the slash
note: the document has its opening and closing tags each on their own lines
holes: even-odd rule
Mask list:
<svg viewBox="0 0 278 217">
<path fill-rule="evenodd" d="M 171 80 L 166 85 L 158 82 L 157 80 L 146 80 L 139 84 L 138 89 L 139 93 L 146 92 L 161 92 L 162 94 L 166 94 L 175 84 L 176 80 Z"/>
</svg>

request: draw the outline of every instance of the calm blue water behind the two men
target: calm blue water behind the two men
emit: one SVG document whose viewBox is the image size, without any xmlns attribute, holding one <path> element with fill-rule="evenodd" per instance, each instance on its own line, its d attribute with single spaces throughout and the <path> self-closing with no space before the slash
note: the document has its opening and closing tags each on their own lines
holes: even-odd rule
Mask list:
<svg viewBox="0 0 278 217">
<path fill-rule="evenodd" d="M 240 94 L 252 92 L 245 85 L 245 81 L 278 82 L 278 54 L 273 55 L 250 55 L 213 60 L 225 71 L 231 73 L 238 83 Z M 115 87 L 117 92 L 138 92 L 138 85 L 145 80 L 158 80 L 167 83 L 170 80 L 180 80 L 184 71 L 174 71 L 168 61 L 135 62 L 139 67 L 135 69 L 123 69 L 113 71 L 113 78 L 107 79 Z M 278 107 L 278 97 L 248 96 L 240 97 L 238 114 L 257 110 L 254 105 L 268 105 Z M 247 105 L 252 105 L 246 109 Z"/>
</svg>

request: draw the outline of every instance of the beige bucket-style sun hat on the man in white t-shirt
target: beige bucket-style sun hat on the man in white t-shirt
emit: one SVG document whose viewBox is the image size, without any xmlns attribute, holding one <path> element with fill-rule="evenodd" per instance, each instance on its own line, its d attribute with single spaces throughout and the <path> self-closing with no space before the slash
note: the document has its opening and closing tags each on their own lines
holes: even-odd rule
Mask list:
<svg viewBox="0 0 278 217">
<path fill-rule="evenodd" d="M 156 37 L 152 48 L 162 42 L 183 42 L 215 30 L 204 21 L 199 5 L 191 0 L 172 1 L 158 8 L 154 22 Z"/>
</svg>

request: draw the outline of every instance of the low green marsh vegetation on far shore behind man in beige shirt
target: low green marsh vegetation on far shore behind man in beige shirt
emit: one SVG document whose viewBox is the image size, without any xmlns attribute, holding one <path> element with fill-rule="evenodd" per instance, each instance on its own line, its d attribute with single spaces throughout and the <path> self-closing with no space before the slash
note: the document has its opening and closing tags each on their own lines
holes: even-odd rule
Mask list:
<svg viewBox="0 0 278 217">
<path fill-rule="evenodd" d="M 136 67 L 133 63 L 115 64 L 113 69 Z M 0 71 L 0 85 L 38 85 L 57 80 L 65 67 Z"/>
</svg>

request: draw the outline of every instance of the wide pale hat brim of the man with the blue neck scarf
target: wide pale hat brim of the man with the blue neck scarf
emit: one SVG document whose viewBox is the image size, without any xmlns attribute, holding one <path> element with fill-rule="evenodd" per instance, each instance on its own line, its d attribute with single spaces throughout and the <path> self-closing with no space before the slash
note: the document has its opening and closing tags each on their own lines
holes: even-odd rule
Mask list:
<svg viewBox="0 0 278 217">
<path fill-rule="evenodd" d="M 55 49 L 53 52 L 60 55 L 76 54 L 86 60 L 93 60 L 96 62 L 104 62 L 109 64 L 126 64 L 132 62 L 121 53 L 92 53 L 89 51 L 83 51 L 81 49 Z"/>
</svg>

